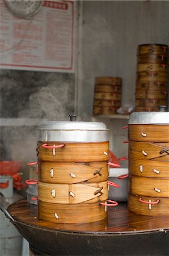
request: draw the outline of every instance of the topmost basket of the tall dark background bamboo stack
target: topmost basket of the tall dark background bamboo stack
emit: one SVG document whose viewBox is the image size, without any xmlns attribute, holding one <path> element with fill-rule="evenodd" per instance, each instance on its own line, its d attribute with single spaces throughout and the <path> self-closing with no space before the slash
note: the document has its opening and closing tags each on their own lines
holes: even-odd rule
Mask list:
<svg viewBox="0 0 169 256">
<path fill-rule="evenodd" d="M 140 44 L 137 47 L 137 55 L 146 54 L 168 54 L 168 46 L 166 44 Z"/>
</svg>

